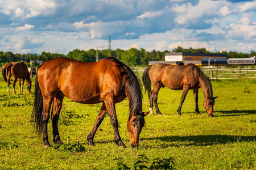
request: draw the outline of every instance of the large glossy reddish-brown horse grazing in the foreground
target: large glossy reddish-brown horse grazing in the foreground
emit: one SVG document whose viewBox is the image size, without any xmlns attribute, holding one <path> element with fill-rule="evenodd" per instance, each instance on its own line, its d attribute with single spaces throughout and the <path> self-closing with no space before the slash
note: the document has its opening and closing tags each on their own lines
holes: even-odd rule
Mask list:
<svg viewBox="0 0 256 170">
<path fill-rule="evenodd" d="M 89 145 L 94 146 L 94 135 L 108 113 L 114 128 L 114 142 L 119 147 L 126 146 L 118 132 L 115 103 L 119 103 L 127 97 L 130 112 L 127 122 L 130 146 L 138 146 L 139 134 L 144 126 L 144 116 L 147 113 L 142 112 L 141 82 L 125 63 L 113 57 L 104 58 L 98 62 L 56 58 L 38 68 L 32 118 L 35 121 L 36 130 L 39 133 L 43 131 L 44 147 L 50 146 L 47 123 L 50 117 L 51 105 L 53 142 L 62 143 L 57 122 L 64 97 L 83 104 L 103 102 L 87 140 Z"/>
</svg>

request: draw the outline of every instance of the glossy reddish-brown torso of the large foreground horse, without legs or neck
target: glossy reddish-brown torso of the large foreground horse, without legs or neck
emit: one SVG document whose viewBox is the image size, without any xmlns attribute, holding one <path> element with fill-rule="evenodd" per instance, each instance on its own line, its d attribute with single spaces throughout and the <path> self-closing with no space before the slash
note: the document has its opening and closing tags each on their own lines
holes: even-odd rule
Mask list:
<svg viewBox="0 0 256 170">
<path fill-rule="evenodd" d="M 93 104 L 102 102 L 109 94 L 119 94 L 123 86 L 122 70 L 118 63 L 108 59 L 81 62 L 56 58 L 38 69 L 38 82 L 49 96 L 61 91 L 68 99 Z"/>
</svg>

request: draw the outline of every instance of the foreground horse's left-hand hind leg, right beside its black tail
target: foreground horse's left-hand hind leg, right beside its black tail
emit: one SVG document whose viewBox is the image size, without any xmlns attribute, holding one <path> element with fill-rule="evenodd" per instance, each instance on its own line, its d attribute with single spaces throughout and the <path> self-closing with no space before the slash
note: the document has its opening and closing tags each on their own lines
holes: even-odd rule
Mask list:
<svg viewBox="0 0 256 170">
<path fill-rule="evenodd" d="M 44 147 L 51 147 L 48 141 L 47 124 L 49 121 L 49 112 L 51 111 L 52 100 L 44 100 L 44 111 L 43 111 L 43 142 Z"/>
</svg>

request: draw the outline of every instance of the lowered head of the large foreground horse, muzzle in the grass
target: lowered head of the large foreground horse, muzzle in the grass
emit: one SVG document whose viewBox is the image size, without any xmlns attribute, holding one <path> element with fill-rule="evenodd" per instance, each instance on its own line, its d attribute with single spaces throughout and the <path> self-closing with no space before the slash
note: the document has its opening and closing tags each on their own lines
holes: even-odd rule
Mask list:
<svg viewBox="0 0 256 170">
<path fill-rule="evenodd" d="M 130 133 L 130 146 L 132 148 L 139 146 L 139 134 L 145 124 L 144 117 L 149 112 L 133 112 L 130 120 L 127 122 L 127 130 Z"/>
</svg>

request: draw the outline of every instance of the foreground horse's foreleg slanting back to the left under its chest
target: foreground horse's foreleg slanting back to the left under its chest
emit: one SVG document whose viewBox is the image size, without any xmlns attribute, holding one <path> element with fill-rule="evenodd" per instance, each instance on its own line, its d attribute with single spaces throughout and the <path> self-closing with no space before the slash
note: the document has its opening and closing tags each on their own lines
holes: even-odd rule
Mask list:
<svg viewBox="0 0 256 170">
<path fill-rule="evenodd" d="M 97 131 L 98 127 L 101 125 L 101 122 L 104 120 L 104 117 L 106 116 L 106 113 L 108 113 L 106 111 L 106 105 L 105 105 L 105 103 L 103 103 L 102 107 L 101 107 L 101 110 L 98 113 L 98 116 L 96 118 L 95 124 L 93 125 L 92 130 L 90 130 L 90 132 L 87 136 L 87 141 L 89 142 L 90 146 L 94 146 L 94 142 L 93 142 L 94 135 L 96 134 L 96 131 Z"/>
</svg>

